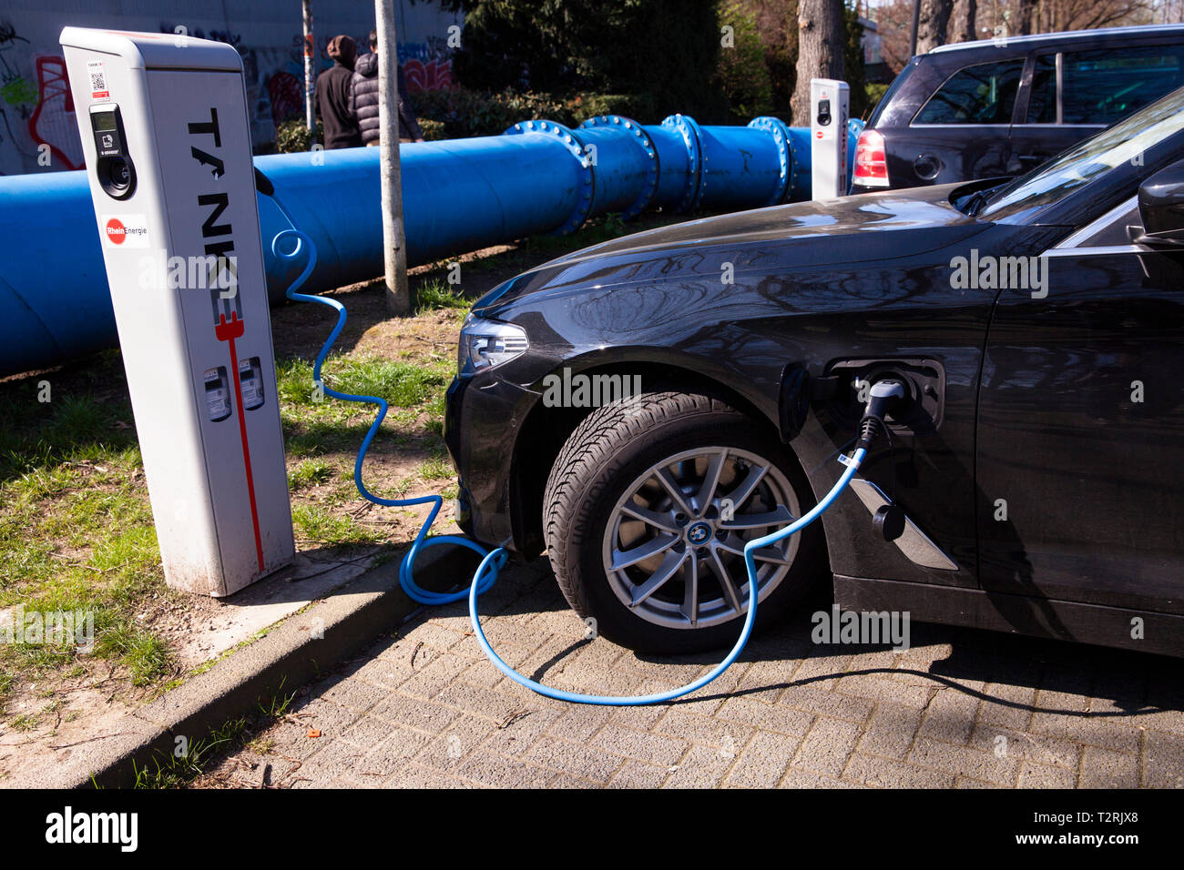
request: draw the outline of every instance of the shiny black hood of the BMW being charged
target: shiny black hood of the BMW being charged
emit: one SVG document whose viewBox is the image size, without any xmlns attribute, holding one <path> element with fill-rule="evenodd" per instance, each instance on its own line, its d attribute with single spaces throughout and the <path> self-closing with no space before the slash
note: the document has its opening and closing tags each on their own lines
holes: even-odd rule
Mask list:
<svg viewBox="0 0 1184 870">
<path fill-rule="evenodd" d="M 616 285 L 718 277 L 727 270 L 740 275 L 913 257 L 990 226 L 951 205 L 955 187 L 797 202 L 625 236 L 523 272 L 478 299 L 474 312 L 502 317 L 527 302 Z M 890 241 L 883 233 L 893 233 Z"/>
</svg>

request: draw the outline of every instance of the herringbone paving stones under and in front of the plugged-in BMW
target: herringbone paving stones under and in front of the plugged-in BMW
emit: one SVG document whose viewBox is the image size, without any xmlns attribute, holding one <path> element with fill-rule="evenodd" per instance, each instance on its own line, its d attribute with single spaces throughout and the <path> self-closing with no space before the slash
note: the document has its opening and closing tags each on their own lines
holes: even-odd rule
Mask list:
<svg viewBox="0 0 1184 870">
<path fill-rule="evenodd" d="M 564 689 L 659 691 L 718 662 L 586 640 L 545 561 L 507 569 L 481 608 L 507 663 Z M 1184 787 L 1177 660 L 919 624 L 905 652 L 815 645 L 810 610 L 689 700 L 606 708 L 519 687 L 464 605 L 427 608 L 199 785 Z"/>
</svg>

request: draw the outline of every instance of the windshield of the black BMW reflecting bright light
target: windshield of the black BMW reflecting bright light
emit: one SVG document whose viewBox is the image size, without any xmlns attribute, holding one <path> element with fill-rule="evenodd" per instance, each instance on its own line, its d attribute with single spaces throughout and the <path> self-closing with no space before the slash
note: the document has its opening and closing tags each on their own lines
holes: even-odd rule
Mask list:
<svg viewBox="0 0 1184 870">
<path fill-rule="evenodd" d="M 978 217 L 998 220 L 1016 211 L 1058 202 L 1082 185 L 1143 154 L 1184 129 L 1184 88 L 1148 105 L 1058 157 L 985 195 Z"/>
</svg>

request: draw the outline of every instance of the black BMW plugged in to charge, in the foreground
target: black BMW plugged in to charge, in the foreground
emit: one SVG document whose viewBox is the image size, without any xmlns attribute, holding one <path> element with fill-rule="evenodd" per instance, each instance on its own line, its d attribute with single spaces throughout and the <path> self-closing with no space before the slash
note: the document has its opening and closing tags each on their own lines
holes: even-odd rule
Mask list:
<svg viewBox="0 0 1184 870">
<path fill-rule="evenodd" d="M 906 399 L 767 623 L 851 611 L 1184 653 L 1184 90 L 1018 179 L 778 206 L 564 257 L 480 299 L 458 520 L 546 550 L 613 640 L 734 640 L 746 541 L 825 494 L 868 385 Z M 888 507 L 886 507 L 888 505 Z"/>
</svg>

